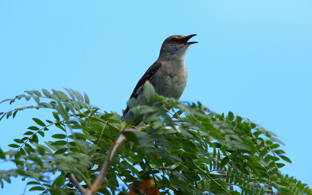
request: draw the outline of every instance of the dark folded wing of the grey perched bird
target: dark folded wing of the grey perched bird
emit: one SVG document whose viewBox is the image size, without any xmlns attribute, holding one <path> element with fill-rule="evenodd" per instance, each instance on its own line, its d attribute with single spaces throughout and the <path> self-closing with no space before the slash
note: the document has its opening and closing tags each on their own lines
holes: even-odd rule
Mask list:
<svg viewBox="0 0 312 195">
<path fill-rule="evenodd" d="M 138 84 L 135 86 L 129 100 L 131 98 L 137 98 L 138 95 L 142 92 L 143 90 L 143 85 L 145 83 L 146 80 L 150 80 L 156 71 L 158 71 L 158 69 L 161 67 L 161 63 L 160 62 L 155 62 L 152 66 L 149 67 L 149 69 L 147 69 L 147 71 L 145 72 L 145 74 L 142 76 L 142 78 L 139 80 Z M 126 114 L 129 111 L 129 106 L 127 106 L 126 111 L 124 114 Z"/>
</svg>

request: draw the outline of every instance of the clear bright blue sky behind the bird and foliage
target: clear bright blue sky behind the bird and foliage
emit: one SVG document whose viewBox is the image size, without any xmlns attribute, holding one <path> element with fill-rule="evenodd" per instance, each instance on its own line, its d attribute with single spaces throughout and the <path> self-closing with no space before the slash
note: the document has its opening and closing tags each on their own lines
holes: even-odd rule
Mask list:
<svg viewBox="0 0 312 195">
<path fill-rule="evenodd" d="M 311 7 L 311 1 L 1 1 L 0 101 L 66 87 L 86 92 L 103 112 L 121 114 L 163 41 L 197 34 L 180 100 L 232 111 L 273 131 L 293 162 L 282 172 L 312 185 Z M 0 112 L 29 104 L 2 103 Z M 0 122 L 4 151 L 33 117 L 52 115 L 24 110 Z M 22 194 L 25 184 L 13 179 L 0 192 Z"/>
</svg>

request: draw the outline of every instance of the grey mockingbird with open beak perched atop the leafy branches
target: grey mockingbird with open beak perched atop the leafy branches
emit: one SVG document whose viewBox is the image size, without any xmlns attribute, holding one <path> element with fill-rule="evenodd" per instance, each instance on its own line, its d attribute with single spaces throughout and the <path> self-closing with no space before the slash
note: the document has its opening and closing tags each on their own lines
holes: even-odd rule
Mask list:
<svg viewBox="0 0 312 195">
<path fill-rule="evenodd" d="M 188 77 L 188 71 L 184 66 L 184 57 L 188 47 L 193 43 L 198 43 L 188 42 L 194 36 L 196 35 L 173 35 L 163 41 L 158 59 L 139 80 L 129 99 L 135 98 L 139 104 L 143 105 L 145 103 L 143 85 L 146 80 L 149 80 L 158 95 L 179 100 Z M 127 106 L 122 119 L 128 112 L 129 106 Z M 136 118 L 133 124 L 139 124 L 146 116 L 147 114 L 144 114 L 144 116 Z"/>
</svg>

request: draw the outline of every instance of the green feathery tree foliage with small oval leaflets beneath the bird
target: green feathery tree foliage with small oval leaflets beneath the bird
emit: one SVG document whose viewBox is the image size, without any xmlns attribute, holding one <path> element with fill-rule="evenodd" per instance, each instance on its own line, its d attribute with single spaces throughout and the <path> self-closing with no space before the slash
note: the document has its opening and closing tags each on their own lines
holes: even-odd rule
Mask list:
<svg viewBox="0 0 312 195">
<path fill-rule="evenodd" d="M 20 175 L 41 194 L 312 194 L 280 172 L 285 164 L 279 160 L 290 162 L 279 149 L 283 143 L 249 119 L 157 96 L 145 84 L 146 105 L 129 100 L 132 115 L 121 121 L 116 112 L 90 105 L 86 94 L 66 91 L 25 91 L 1 102 L 34 99 L 37 105 L 1 112 L 0 120 L 52 109 L 50 119 L 33 118 L 12 150 L 0 149 L 2 161 L 16 164 L 0 171 L 2 188 Z M 144 123 L 130 127 L 144 113 Z M 43 142 L 46 131 L 55 133 Z"/>
</svg>

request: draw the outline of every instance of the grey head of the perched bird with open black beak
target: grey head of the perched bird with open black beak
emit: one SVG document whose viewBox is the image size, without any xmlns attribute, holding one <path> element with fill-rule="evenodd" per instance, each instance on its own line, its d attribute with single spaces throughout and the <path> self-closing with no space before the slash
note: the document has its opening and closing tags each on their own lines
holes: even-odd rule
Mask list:
<svg viewBox="0 0 312 195">
<path fill-rule="evenodd" d="M 159 58 L 164 59 L 177 59 L 184 61 L 184 57 L 188 47 L 193 43 L 188 40 L 196 35 L 173 35 L 163 41 L 163 45 L 160 49 Z"/>
</svg>

